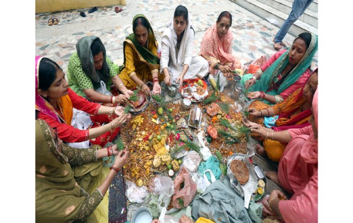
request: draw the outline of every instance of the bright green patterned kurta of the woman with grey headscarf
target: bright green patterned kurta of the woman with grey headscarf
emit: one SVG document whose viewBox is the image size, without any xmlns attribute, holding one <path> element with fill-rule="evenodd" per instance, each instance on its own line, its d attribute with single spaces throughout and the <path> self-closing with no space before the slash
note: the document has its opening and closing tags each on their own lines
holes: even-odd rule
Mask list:
<svg viewBox="0 0 353 223">
<path fill-rule="evenodd" d="M 110 91 L 111 89 L 109 85 L 113 84 L 112 78 L 119 73 L 119 66 L 114 64 L 108 57 L 105 57 L 105 60 L 110 68 L 110 80 L 105 84 L 107 85 L 108 91 Z M 83 71 L 77 52 L 73 53 L 68 61 L 67 80 L 68 86 L 81 97 L 86 97 L 82 90 L 97 90 L 97 88 L 100 87 L 100 84 L 94 85 L 90 77 Z"/>
</svg>

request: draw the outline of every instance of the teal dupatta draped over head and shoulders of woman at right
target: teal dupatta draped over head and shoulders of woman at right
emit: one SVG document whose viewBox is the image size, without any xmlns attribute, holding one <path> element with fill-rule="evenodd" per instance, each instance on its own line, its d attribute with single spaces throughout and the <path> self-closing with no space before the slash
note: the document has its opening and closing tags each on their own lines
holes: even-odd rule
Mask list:
<svg viewBox="0 0 353 223">
<path fill-rule="evenodd" d="M 317 35 L 310 33 L 311 34 L 311 41 L 309 44 L 308 49 L 305 52 L 304 57 L 301 59 L 301 61 L 292 69 L 292 71 L 289 73 L 287 77 L 284 77 L 284 80 L 280 84 L 277 90 L 272 90 L 270 92 L 267 92 L 267 90 L 270 88 L 272 81 L 275 77 L 277 77 L 278 73 L 283 71 L 283 69 L 288 65 L 289 63 L 289 51 L 291 49 L 288 48 L 288 50 L 282 54 L 270 67 L 268 67 L 264 73 L 261 75 L 261 79 L 257 81 L 256 84 L 250 87 L 250 91 L 256 92 L 256 91 L 263 91 L 266 92 L 269 95 L 279 95 L 281 92 L 285 91 L 289 86 L 291 86 L 295 81 L 299 79 L 299 77 L 305 72 L 305 70 L 310 67 L 312 58 L 315 55 L 315 52 L 317 50 Z"/>
</svg>

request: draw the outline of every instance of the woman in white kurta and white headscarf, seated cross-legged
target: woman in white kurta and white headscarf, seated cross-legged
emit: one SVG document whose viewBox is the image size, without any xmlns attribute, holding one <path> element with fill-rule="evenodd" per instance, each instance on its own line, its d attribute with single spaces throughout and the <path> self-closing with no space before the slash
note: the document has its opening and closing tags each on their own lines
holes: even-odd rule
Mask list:
<svg viewBox="0 0 353 223">
<path fill-rule="evenodd" d="M 160 69 L 167 85 L 181 87 L 184 79 L 203 78 L 208 72 L 208 62 L 193 54 L 194 30 L 188 14 L 187 8 L 178 6 L 162 36 Z"/>
</svg>

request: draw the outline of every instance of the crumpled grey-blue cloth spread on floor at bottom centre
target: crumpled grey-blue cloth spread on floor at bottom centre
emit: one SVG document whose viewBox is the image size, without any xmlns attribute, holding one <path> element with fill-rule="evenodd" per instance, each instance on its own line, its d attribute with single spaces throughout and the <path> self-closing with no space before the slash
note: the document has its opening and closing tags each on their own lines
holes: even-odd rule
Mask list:
<svg viewBox="0 0 353 223">
<path fill-rule="evenodd" d="M 244 200 L 230 187 L 227 176 L 210 184 L 192 203 L 192 217 L 205 217 L 217 222 L 252 223 Z"/>
</svg>

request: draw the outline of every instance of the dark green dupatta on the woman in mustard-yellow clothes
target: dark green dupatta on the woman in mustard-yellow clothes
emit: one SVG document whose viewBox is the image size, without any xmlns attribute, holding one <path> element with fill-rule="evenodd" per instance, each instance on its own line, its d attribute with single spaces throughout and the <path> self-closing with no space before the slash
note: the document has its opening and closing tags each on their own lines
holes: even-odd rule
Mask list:
<svg viewBox="0 0 353 223">
<path fill-rule="evenodd" d="M 154 43 L 156 44 L 156 48 L 158 48 L 158 43 L 156 41 L 156 37 L 153 33 L 153 29 L 151 27 L 150 22 L 148 21 L 148 19 L 146 18 L 146 16 L 144 16 L 143 14 L 137 14 L 135 15 L 135 17 L 133 17 L 132 19 L 132 23 L 135 22 L 135 20 L 139 17 L 143 17 L 146 19 L 148 26 L 150 27 L 148 30 L 148 42 L 150 40 L 153 40 Z M 147 42 L 147 47 L 148 47 L 148 43 Z M 131 46 L 131 48 L 137 53 L 140 61 L 142 61 L 143 63 L 147 64 L 150 68 L 152 69 L 158 69 L 159 68 L 159 58 L 154 55 L 151 51 L 149 51 L 148 49 L 146 49 L 145 47 L 141 46 L 141 44 L 138 42 L 138 40 L 136 39 L 135 33 L 131 33 L 130 35 L 128 35 L 123 43 L 124 49 L 124 67 L 125 68 L 125 63 L 126 63 L 126 56 L 125 56 L 125 46 L 126 44 L 129 44 Z"/>
</svg>

